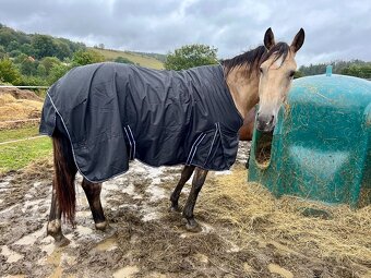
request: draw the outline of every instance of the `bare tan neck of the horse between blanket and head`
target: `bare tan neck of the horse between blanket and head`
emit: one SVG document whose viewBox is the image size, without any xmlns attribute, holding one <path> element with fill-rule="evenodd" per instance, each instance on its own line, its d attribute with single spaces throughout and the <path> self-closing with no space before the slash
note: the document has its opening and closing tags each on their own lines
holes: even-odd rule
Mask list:
<svg viewBox="0 0 371 278">
<path fill-rule="evenodd" d="M 246 69 L 232 69 L 226 78 L 229 92 L 238 111 L 243 118 L 259 102 L 259 75 L 252 72 L 247 76 Z"/>
</svg>

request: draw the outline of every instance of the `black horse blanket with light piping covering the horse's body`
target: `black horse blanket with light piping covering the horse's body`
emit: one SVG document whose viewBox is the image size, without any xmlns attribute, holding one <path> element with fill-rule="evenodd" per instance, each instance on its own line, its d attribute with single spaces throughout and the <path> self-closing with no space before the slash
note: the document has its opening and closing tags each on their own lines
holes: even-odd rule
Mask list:
<svg viewBox="0 0 371 278">
<path fill-rule="evenodd" d="M 92 182 L 125 172 L 131 159 L 229 169 L 243 122 L 222 65 L 179 72 L 120 63 L 79 67 L 48 90 L 41 134 L 52 135 L 56 117 L 79 171 Z"/>
</svg>

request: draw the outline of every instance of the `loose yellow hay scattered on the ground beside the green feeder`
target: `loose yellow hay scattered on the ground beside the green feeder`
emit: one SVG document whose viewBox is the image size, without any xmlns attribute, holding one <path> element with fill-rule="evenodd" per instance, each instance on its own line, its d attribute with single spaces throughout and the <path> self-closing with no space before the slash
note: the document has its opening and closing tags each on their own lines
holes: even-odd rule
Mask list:
<svg viewBox="0 0 371 278">
<path fill-rule="evenodd" d="M 371 206 L 351 210 L 290 196 L 276 200 L 262 185 L 248 183 L 241 165 L 232 174 L 215 176 L 208 183 L 199 208 L 215 225 L 236 230 L 231 240 L 240 247 L 271 244 L 284 254 L 321 264 L 336 262 L 352 273 L 369 271 Z M 325 210 L 331 217 L 306 217 L 308 208 Z"/>
</svg>

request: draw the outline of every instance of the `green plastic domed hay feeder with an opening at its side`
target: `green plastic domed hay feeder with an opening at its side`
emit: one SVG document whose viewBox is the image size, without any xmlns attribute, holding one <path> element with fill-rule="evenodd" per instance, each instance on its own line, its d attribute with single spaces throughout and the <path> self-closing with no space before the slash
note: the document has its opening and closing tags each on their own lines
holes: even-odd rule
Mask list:
<svg viewBox="0 0 371 278">
<path fill-rule="evenodd" d="M 254 131 L 249 181 L 352 207 L 371 204 L 371 82 L 336 75 L 294 82 L 271 134 Z"/>
</svg>

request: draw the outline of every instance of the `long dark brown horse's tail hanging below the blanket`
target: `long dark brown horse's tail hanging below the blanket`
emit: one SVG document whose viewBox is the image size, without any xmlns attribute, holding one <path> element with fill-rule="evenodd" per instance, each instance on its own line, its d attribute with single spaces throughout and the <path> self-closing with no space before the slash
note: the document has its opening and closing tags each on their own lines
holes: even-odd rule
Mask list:
<svg viewBox="0 0 371 278">
<path fill-rule="evenodd" d="M 73 160 L 70 140 L 59 117 L 56 119 L 52 146 L 55 155 L 53 190 L 62 217 L 74 225 L 76 207 L 74 179 L 77 168 Z"/>
</svg>

